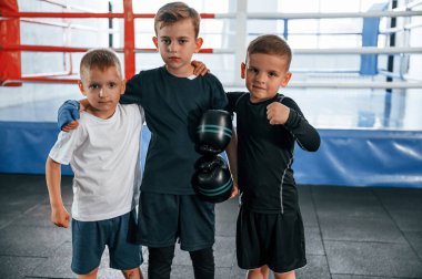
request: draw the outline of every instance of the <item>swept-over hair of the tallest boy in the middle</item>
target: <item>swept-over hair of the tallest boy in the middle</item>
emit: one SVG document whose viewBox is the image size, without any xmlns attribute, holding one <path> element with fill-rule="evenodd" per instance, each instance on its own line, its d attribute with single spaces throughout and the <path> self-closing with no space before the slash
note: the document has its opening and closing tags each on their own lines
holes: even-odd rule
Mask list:
<svg viewBox="0 0 422 279">
<path fill-rule="evenodd" d="M 194 28 L 195 38 L 199 35 L 199 25 L 201 17 L 195 9 L 190 8 L 183 2 L 171 2 L 161 7 L 154 18 L 154 30 L 158 34 L 158 30 L 163 27 L 171 25 L 177 21 L 191 19 Z"/>
</svg>

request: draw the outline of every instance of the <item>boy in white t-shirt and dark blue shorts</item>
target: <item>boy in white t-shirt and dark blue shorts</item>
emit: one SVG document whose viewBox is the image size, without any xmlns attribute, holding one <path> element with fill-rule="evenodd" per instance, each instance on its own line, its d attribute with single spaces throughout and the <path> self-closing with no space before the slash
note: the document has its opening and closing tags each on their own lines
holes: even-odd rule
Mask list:
<svg viewBox="0 0 422 279">
<path fill-rule="evenodd" d="M 79 89 L 89 105 L 79 128 L 60 132 L 46 163 L 51 220 L 69 227 L 70 215 L 60 190 L 61 164 L 74 173 L 72 204 L 72 271 L 97 278 L 101 256 L 109 248 L 110 267 L 124 278 L 142 278 L 142 249 L 130 241 L 139 198 L 139 105 L 120 105 L 125 82 L 117 54 L 109 49 L 88 51 L 80 65 Z"/>
</svg>

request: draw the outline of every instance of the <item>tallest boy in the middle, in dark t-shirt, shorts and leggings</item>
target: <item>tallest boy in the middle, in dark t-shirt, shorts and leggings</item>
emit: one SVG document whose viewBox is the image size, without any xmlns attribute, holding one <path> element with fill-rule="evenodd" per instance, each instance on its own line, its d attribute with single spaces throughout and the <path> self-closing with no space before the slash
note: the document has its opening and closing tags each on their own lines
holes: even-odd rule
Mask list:
<svg viewBox="0 0 422 279">
<path fill-rule="evenodd" d="M 153 42 L 165 64 L 131 78 L 121 99 L 122 103 L 142 105 L 151 131 L 138 237 L 149 248 L 148 278 L 152 279 L 170 278 L 177 240 L 190 252 L 195 278 L 214 278 L 214 205 L 194 194 L 191 176 L 201 156 L 195 152 L 200 117 L 208 110 L 227 108 L 228 99 L 214 75 L 193 74 L 191 59 L 202 45 L 199 25 L 199 13 L 187 4 L 161 7 L 154 19 Z M 229 144 L 227 152 L 235 178 L 233 146 Z M 234 186 L 233 196 L 235 190 Z"/>
</svg>

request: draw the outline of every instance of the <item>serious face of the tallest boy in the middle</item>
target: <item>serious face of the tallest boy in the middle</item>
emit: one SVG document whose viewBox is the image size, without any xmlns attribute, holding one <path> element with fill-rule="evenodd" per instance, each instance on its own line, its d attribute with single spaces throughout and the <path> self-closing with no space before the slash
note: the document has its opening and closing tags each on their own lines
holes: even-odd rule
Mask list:
<svg viewBox="0 0 422 279">
<path fill-rule="evenodd" d="M 202 39 L 195 38 L 191 19 L 158 29 L 152 40 L 171 74 L 189 76 L 193 73 L 191 59 L 201 49 Z"/>
</svg>

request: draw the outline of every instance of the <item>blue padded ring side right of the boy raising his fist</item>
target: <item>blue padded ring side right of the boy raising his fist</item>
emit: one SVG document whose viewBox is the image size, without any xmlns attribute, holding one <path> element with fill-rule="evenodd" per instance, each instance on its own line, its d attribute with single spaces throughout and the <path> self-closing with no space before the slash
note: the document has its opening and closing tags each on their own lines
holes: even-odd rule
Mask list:
<svg viewBox="0 0 422 279">
<path fill-rule="evenodd" d="M 297 148 L 299 183 L 422 188 L 422 132 L 319 130 L 321 147 Z"/>
</svg>

